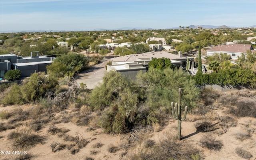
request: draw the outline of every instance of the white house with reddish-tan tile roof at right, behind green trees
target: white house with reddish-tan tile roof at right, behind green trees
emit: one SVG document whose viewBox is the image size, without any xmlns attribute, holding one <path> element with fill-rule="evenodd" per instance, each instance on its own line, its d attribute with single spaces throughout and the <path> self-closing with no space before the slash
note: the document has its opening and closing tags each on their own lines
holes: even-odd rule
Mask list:
<svg viewBox="0 0 256 160">
<path fill-rule="evenodd" d="M 251 44 L 229 44 L 226 46 L 214 46 L 207 50 L 207 56 L 212 56 L 215 53 L 230 55 L 232 59 L 237 59 L 242 53 L 246 53 L 247 50 L 254 52 Z"/>
</svg>

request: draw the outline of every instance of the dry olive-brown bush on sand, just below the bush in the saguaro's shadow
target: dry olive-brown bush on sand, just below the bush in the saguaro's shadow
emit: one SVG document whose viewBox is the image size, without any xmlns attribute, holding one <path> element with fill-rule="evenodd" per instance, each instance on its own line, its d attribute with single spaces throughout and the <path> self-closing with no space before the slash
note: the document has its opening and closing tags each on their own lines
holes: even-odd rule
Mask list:
<svg viewBox="0 0 256 160">
<path fill-rule="evenodd" d="M 221 150 L 223 147 L 223 143 L 221 140 L 216 140 L 216 138 L 212 134 L 207 134 L 203 136 L 200 140 L 200 145 L 204 148 L 208 148 L 209 150 Z"/>
</svg>

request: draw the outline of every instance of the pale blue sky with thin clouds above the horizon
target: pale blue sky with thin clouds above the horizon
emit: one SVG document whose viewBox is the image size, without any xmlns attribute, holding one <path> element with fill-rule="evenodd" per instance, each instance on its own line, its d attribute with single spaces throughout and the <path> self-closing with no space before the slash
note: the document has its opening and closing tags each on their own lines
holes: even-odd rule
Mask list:
<svg viewBox="0 0 256 160">
<path fill-rule="evenodd" d="M 0 32 L 256 25 L 256 0 L 0 0 Z"/>
</svg>

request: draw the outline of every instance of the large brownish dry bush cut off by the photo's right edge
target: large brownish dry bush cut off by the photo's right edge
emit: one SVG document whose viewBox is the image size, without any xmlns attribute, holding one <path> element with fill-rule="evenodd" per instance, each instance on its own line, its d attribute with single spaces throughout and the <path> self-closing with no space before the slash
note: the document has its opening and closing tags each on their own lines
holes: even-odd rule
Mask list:
<svg viewBox="0 0 256 160">
<path fill-rule="evenodd" d="M 236 108 L 230 109 L 230 114 L 238 117 L 254 117 L 256 118 L 256 100 L 244 98 L 236 102 Z"/>
</svg>

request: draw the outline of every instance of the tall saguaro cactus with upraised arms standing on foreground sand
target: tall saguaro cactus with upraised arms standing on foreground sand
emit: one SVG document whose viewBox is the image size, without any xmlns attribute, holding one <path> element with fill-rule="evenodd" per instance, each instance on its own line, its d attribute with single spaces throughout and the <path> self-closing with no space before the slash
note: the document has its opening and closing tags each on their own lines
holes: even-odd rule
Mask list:
<svg viewBox="0 0 256 160">
<path fill-rule="evenodd" d="M 181 117 L 181 88 L 179 88 L 179 100 L 178 104 L 175 103 L 175 107 L 173 106 L 173 102 L 171 103 L 172 105 L 172 116 L 174 119 L 178 120 L 178 139 L 181 139 L 181 121 L 186 119 L 187 115 L 187 109 L 188 106 L 185 107 L 185 112 L 183 117 Z"/>
</svg>

